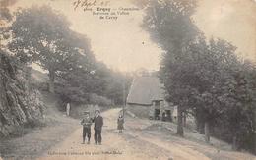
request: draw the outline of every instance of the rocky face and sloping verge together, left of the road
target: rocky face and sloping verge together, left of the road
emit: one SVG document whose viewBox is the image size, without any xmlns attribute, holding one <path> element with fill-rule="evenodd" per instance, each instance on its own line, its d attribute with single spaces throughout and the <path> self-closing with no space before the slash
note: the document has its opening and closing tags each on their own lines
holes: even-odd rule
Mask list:
<svg viewBox="0 0 256 160">
<path fill-rule="evenodd" d="M 0 50 L 0 78 L 0 159 L 31 159 L 72 131 L 77 122 L 57 110 L 58 98 L 34 86 L 45 74 Z"/>
</svg>

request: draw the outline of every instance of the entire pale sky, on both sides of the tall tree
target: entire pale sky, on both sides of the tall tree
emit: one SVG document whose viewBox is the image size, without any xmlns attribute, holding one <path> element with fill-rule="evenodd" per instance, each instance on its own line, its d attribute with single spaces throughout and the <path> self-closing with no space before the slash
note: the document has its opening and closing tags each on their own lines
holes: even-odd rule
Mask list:
<svg viewBox="0 0 256 160">
<path fill-rule="evenodd" d="M 117 20 L 99 20 L 82 8 L 74 11 L 77 0 L 17 0 L 12 9 L 48 4 L 67 16 L 71 29 L 91 40 L 96 59 L 117 71 L 158 70 L 163 52 L 141 26 L 143 10 L 131 11 Z M 90 0 L 88 0 L 90 1 Z M 102 1 L 102 0 L 97 0 Z M 136 7 L 129 0 L 110 0 L 111 8 Z M 256 60 L 256 3 L 254 0 L 198 0 L 193 16 L 207 37 L 220 37 L 237 46 L 242 58 Z"/>
</svg>

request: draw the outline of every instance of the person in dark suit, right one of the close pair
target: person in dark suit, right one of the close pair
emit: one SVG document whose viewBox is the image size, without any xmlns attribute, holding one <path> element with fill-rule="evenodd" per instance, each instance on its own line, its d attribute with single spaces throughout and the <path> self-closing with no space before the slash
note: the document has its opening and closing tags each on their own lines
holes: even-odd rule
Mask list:
<svg viewBox="0 0 256 160">
<path fill-rule="evenodd" d="M 96 145 L 99 144 L 101 145 L 101 131 L 102 131 L 102 126 L 103 126 L 103 118 L 100 116 L 100 111 L 96 109 L 96 116 L 93 120 L 95 123 L 95 142 Z"/>
</svg>

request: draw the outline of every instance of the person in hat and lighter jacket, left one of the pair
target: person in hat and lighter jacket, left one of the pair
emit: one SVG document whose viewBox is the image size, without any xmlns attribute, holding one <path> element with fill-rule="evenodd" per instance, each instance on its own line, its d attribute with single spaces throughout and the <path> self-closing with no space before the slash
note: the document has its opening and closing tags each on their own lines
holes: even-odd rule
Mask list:
<svg viewBox="0 0 256 160">
<path fill-rule="evenodd" d="M 90 118 L 89 112 L 84 112 L 85 117 L 81 121 L 81 125 L 83 125 L 83 143 L 85 144 L 86 136 L 88 138 L 88 144 L 90 144 L 90 138 L 91 138 L 91 125 L 92 125 L 92 119 Z"/>
</svg>

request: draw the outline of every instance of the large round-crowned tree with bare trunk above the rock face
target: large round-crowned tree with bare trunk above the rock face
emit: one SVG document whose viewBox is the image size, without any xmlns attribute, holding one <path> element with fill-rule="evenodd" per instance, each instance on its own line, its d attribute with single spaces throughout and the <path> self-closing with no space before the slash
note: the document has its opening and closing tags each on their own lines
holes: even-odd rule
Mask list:
<svg viewBox="0 0 256 160">
<path fill-rule="evenodd" d="M 18 11 L 9 29 L 9 49 L 22 62 L 35 62 L 48 71 L 50 92 L 54 92 L 56 74 L 63 68 L 72 70 L 78 61 L 75 55 L 91 54 L 88 40 L 71 31 L 66 18 L 47 6 Z"/>
</svg>

